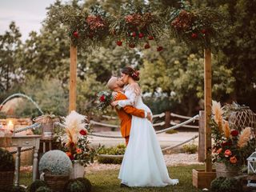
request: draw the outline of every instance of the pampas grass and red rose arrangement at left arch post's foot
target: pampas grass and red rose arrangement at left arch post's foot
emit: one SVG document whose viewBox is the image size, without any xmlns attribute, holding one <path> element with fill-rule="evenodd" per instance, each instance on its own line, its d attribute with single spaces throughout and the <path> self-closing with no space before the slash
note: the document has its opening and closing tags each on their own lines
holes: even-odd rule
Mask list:
<svg viewBox="0 0 256 192">
<path fill-rule="evenodd" d="M 95 154 L 95 150 L 89 146 L 90 127 L 86 121 L 86 116 L 71 111 L 64 120 L 66 134 L 61 138 L 63 150 L 70 160 L 78 161 L 83 166 L 92 162 Z"/>
</svg>

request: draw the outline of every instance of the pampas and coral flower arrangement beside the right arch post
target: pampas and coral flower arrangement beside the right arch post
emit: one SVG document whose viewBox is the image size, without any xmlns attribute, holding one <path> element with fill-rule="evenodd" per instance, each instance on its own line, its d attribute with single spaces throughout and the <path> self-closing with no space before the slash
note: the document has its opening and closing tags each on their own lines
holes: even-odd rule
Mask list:
<svg viewBox="0 0 256 192">
<path fill-rule="evenodd" d="M 212 102 L 212 138 L 214 139 L 213 162 L 224 162 L 226 166 L 242 166 L 246 158 L 254 151 L 255 139 L 251 136 L 250 127 L 240 133 L 230 130 L 229 122 L 223 119 L 220 102 Z"/>
</svg>

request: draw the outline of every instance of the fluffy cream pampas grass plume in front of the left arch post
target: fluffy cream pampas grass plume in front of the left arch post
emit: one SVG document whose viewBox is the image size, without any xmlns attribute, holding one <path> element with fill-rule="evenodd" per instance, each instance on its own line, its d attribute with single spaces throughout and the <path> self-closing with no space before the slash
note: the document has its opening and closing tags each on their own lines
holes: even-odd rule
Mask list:
<svg viewBox="0 0 256 192">
<path fill-rule="evenodd" d="M 66 126 L 66 146 L 70 146 L 70 143 L 74 145 L 78 142 L 78 134 L 80 130 L 85 130 L 86 128 L 86 116 L 78 114 L 74 110 L 66 116 L 64 125 Z"/>
</svg>

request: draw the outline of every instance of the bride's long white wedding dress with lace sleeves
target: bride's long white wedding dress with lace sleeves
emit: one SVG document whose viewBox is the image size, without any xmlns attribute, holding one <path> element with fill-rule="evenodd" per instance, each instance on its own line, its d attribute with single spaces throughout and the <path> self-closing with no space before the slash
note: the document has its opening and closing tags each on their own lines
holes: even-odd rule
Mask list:
<svg viewBox="0 0 256 192">
<path fill-rule="evenodd" d="M 125 91 L 128 99 L 119 101 L 119 106 L 134 106 L 151 113 L 150 108 L 142 102 L 137 83 L 126 86 Z M 129 144 L 118 178 L 127 186 L 167 186 L 178 183 L 178 179 L 169 178 L 154 127 L 146 118 L 132 118 Z"/>
</svg>

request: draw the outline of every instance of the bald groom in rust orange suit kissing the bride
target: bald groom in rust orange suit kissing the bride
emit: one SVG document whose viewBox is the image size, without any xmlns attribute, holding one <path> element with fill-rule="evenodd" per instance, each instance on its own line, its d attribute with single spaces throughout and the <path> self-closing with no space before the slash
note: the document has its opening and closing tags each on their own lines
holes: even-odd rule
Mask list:
<svg viewBox="0 0 256 192">
<path fill-rule="evenodd" d="M 112 77 L 107 82 L 107 86 L 110 90 L 117 92 L 117 95 L 114 97 L 114 101 L 118 100 L 126 100 L 126 95 L 122 92 L 122 87 L 124 83 L 117 77 Z M 131 127 L 131 119 L 132 115 L 137 116 L 139 118 L 147 118 L 149 121 L 151 120 L 151 114 L 147 113 L 145 110 L 138 110 L 133 106 L 125 106 L 121 109 L 115 108 L 118 113 L 118 117 L 121 120 L 121 134 L 123 138 L 126 138 L 126 146 L 129 142 L 130 136 L 130 127 Z"/>
</svg>

